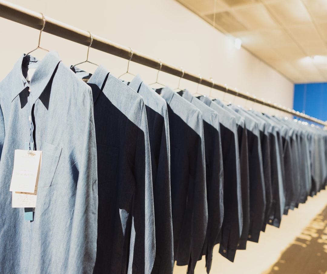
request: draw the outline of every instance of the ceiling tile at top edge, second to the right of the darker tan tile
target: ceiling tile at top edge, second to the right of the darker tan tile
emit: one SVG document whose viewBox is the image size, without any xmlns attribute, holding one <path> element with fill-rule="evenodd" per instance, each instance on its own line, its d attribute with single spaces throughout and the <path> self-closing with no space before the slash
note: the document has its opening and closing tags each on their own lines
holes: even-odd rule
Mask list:
<svg viewBox="0 0 327 274">
<path fill-rule="evenodd" d="M 267 7 L 284 26 L 310 22 L 310 15 L 301 0 L 267 2 Z"/>
</svg>

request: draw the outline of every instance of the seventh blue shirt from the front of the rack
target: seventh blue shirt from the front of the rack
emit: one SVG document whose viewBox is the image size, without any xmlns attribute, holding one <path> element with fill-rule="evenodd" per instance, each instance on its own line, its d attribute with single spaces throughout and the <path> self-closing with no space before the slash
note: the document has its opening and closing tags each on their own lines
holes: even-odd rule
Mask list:
<svg viewBox="0 0 327 274">
<path fill-rule="evenodd" d="M 241 174 L 241 190 L 242 190 L 242 210 L 243 210 L 243 228 L 241 238 L 238 242 L 237 249 L 246 249 L 249 239 L 250 229 L 250 176 L 249 176 L 249 150 L 248 150 L 248 133 L 245 119 L 237 112 L 225 105 L 219 99 L 213 100 L 216 104 L 229 112 L 236 120 L 238 147 L 240 155 L 240 174 Z"/>
</svg>

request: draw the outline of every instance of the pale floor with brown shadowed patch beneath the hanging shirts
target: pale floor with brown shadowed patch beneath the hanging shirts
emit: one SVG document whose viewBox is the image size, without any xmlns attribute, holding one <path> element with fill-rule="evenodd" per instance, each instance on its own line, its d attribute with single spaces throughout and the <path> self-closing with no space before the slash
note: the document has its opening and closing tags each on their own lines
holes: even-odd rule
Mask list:
<svg viewBox="0 0 327 274">
<path fill-rule="evenodd" d="M 248 242 L 247 250 L 236 251 L 234 263 L 214 248 L 210 274 L 323 274 L 327 272 L 327 191 L 309 197 L 298 209 L 284 216 L 280 228 L 267 226 L 259 243 Z M 173 274 L 186 274 L 186 266 Z M 205 258 L 195 274 L 206 274 Z M 327 273 L 326 273 L 327 274 Z"/>
</svg>

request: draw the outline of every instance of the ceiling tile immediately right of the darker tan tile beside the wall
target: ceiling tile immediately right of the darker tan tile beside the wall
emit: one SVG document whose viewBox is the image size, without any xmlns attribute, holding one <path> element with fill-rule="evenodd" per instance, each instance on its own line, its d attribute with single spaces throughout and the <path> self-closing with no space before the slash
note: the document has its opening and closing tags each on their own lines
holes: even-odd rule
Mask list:
<svg viewBox="0 0 327 274">
<path fill-rule="evenodd" d="M 243 25 L 251 30 L 279 26 L 263 4 L 254 4 L 232 12 Z"/>
</svg>

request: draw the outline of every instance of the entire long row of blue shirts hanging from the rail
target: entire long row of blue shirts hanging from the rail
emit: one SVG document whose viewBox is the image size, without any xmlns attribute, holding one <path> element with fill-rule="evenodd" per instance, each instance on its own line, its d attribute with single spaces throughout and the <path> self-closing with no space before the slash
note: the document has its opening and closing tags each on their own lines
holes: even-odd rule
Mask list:
<svg viewBox="0 0 327 274">
<path fill-rule="evenodd" d="M 321 129 L 56 52 L 21 56 L 0 107 L 1 273 L 193 273 L 203 255 L 209 273 L 215 244 L 233 261 L 326 184 Z M 29 222 L 9 192 L 25 143 L 43 152 Z"/>
</svg>

